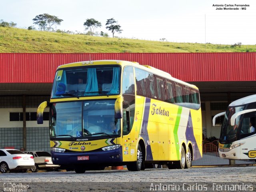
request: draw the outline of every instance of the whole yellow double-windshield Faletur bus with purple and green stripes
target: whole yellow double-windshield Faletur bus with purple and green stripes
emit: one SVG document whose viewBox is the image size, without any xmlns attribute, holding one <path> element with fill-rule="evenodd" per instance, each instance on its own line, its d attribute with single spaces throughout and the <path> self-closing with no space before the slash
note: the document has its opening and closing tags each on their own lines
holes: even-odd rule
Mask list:
<svg viewBox="0 0 256 192">
<path fill-rule="evenodd" d="M 77 173 L 123 165 L 190 168 L 202 157 L 198 88 L 150 66 L 119 60 L 59 66 L 38 124 L 47 106 L 52 161 Z"/>
</svg>

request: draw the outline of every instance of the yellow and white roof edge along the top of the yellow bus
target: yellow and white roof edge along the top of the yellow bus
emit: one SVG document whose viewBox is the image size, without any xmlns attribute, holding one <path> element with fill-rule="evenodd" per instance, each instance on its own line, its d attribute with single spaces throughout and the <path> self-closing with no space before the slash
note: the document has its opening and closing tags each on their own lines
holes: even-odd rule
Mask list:
<svg viewBox="0 0 256 192">
<path fill-rule="evenodd" d="M 69 63 L 69 64 L 60 65 L 60 66 L 58 66 L 58 69 L 59 68 L 76 67 L 76 66 L 92 66 L 92 65 L 100 65 L 100 64 L 112 64 L 112 65 L 113 64 L 119 64 L 119 65 L 124 65 L 124 66 L 125 65 L 132 65 L 134 67 L 146 70 L 146 71 L 148 71 L 148 72 L 150 72 L 152 74 L 156 74 L 156 75 L 162 76 L 162 77 L 164 77 L 166 79 L 172 80 L 174 82 L 177 82 L 177 83 L 180 83 L 180 84 L 183 84 L 185 86 L 189 86 L 189 87 L 192 87 L 192 88 L 198 90 L 198 88 L 195 85 L 186 83 L 186 82 L 184 82 L 182 80 L 178 80 L 178 79 L 172 77 L 169 73 L 164 72 L 164 71 L 159 70 L 159 69 L 156 69 L 154 67 L 151 67 L 151 66 L 148 66 L 148 65 L 140 65 L 138 62 L 130 62 L 130 61 L 122 61 L 122 60 L 83 61 L 83 62 L 75 62 L 75 63 Z"/>
</svg>

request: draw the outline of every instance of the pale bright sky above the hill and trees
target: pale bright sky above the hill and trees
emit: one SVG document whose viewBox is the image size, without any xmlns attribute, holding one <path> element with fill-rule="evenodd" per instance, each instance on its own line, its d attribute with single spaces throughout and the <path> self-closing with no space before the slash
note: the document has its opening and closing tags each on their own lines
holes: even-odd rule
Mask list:
<svg viewBox="0 0 256 192">
<path fill-rule="evenodd" d="M 215 4 L 247 4 L 246 10 L 216 10 Z M 212 44 L 256 44 L 255 0 L 0 0 L 0 20 L 18 28 L 33 26 L 33 18 L 50 14 L 62 19 L 55 29 L 85 32 L 84 22 L 114 18 L 123 30 L 115 36 L 143 40 Z M 231 8 L 236 8 L 232 6 Z M 237 7 L 241 8 L 241 7 Z"/>
</svg>

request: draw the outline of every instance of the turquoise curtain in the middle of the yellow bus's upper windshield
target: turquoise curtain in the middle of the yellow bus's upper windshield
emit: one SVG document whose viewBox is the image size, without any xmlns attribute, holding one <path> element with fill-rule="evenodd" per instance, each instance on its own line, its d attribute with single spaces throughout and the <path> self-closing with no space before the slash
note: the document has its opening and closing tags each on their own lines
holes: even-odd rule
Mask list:
<svg viewBox="0 0 256 192">
<path fill-rule="evenodd" d="M 98 80 L 96 75 L 96 68 L 89 68 L 87 72 L 87 84 L 85 88 L 85 96 L 88 95 L 98 95 L 98 93 L 90 93 L 90 92 L 98 92 Z"/>
</svg>

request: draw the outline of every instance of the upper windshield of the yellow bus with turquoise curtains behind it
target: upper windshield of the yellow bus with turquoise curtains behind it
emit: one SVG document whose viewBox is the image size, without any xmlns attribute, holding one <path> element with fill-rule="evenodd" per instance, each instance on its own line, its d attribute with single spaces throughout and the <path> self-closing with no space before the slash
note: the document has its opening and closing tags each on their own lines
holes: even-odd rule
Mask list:
<svg viewBox="0 0 256 192">
<path fill-rule="evenodd" d="M 56 72 L 51 98 L 120 94 L 119 66 L 61 69 Z"/>
</svg>

